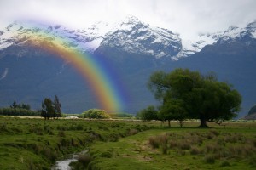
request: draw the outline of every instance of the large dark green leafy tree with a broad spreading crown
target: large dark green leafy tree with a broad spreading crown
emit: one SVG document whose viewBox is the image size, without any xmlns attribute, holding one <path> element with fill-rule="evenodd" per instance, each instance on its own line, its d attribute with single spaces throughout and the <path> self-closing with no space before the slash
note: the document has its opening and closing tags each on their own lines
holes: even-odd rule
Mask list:
<svg viewBox="0 0 256 170">
<path fill-rule="evenodd" d="M 200 119 L 201 127 L 207 127 L 207 121 L 229 120 L 240 110 L 241 95 L 229 83 L 218 82 L 212 73 L 157 71 L 151 75 L 148 88 L 162 101 L 160 116 Z"/>
</svg>

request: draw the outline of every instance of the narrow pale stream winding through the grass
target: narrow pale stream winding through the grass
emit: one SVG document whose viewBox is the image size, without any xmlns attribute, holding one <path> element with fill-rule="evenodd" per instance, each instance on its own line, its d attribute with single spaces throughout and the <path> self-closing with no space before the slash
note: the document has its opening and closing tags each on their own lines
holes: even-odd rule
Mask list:
<svg viewBox="0 0 256 170">
<path fill-rule="evenodd" d="M 72 161 L 78 161 L 79 155 L 84 155 L 86 152 L 88 152 L 88 150 L 84 150 L 79 153 L 74 153 L 64 160 L 56 161 L 55 165 L 51 167 L 51 170 L 72 170 L 72 167 L 70 167 L 69 164 Z"/>
</svg>

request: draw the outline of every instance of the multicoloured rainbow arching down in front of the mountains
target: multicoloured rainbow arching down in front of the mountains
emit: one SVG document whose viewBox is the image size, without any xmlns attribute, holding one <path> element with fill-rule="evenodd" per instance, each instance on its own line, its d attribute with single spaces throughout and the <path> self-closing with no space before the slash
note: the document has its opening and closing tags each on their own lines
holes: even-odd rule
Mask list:
<svg viewBox="0 0 256 170">
<path fill-rule="evenodd" d="M 99 58 L 77 49 L 63 47 L 63 44 L 69 43 L 65 39 L 65 35 L 56 36 L 48 31 L 29 31 L 25 36 L 30 37 L 29 40 L 35 47 L 53 53 L 73 65 L 86 82 L 89 82 L 90 88 L 100 104 L 100 109 L 108 112 L 124 111 L 125 94 L 122 91 L 123 88 L 120 88 L 117 80 L 114 79 L 115 77 L 110 75 L 108 67 L 102 65 Z M 54 44 L 48 40 L 49 38 L 54 38 Z M 38 40 L 40 40 L 40 44 L 36 44 Z"/>
</svg>

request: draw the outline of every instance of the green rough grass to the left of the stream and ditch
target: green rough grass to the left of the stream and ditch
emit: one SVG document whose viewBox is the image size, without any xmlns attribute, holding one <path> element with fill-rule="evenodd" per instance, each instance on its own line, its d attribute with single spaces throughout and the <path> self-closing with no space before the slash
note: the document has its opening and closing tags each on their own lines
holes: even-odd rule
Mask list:
<svg viewBox="0 0 256 170">
<path fill-rule="evenodd" d="M 49 169 L 56 160 L 86 150 L 95 141 L 118 141 L 148 128 L 139 122 L 83 119 L 44 122 L 0 116 L 0 169 Z"/>
</svg>

